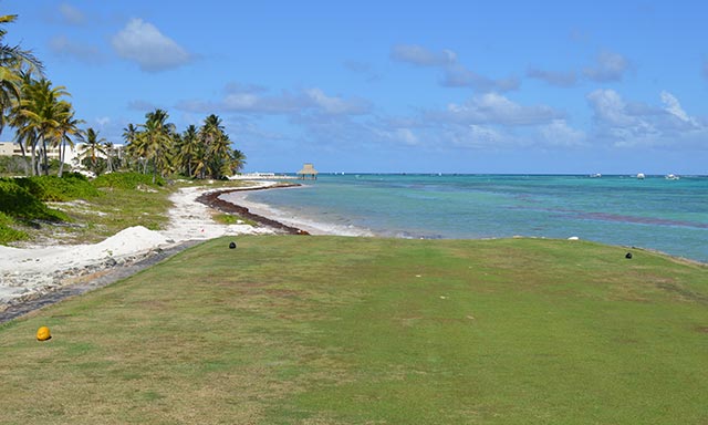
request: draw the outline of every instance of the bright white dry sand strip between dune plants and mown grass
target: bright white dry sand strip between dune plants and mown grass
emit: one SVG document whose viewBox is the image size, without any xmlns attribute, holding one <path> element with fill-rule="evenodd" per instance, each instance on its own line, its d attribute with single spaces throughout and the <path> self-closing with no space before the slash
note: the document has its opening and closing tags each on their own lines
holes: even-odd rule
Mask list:
<svg viewBox="0 0 708 425">
<path fill-rule="evenodd" d="M 258 187 L 274 185 L 259 182 Z M 253 186 L 251 186 L 253 187 Z M 100 272 L 116 265 L 131 263 L 188 240 L 206 240 L 226 235 L 273 234 L 249 225 L 221 225 L 211 219 L 211 208 L 196 199 L 206 188 L 183 188 L 170 196 L 166 230 L 131 227 L 94 245 L 11 248 L 0 246 L 0 310 L 8 304 L 51 291 L 77 276 Z"/>
</svg>

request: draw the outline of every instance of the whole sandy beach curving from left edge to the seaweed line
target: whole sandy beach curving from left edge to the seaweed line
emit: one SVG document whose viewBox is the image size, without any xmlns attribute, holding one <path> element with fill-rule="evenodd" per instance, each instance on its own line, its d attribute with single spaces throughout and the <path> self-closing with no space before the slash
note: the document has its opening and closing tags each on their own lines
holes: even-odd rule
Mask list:
<svg viewBox="0 0 708 425">
<path fill-rule="evenodd" d="M 253 184 L 225 190 L 177 189 L 169 196 L 174 204 L 169 225 L 159 231 L 136 226 L 93 245 L 0 246 L 0 323 L 125 279 L 205 240 L 229 235 L 309 235 L 219 199 L 223 193 L 284 187 L 272 180 Z M 243 215 L 259 226 L 219 224 L 212 218 L 215 210 Z"/>
</svg>

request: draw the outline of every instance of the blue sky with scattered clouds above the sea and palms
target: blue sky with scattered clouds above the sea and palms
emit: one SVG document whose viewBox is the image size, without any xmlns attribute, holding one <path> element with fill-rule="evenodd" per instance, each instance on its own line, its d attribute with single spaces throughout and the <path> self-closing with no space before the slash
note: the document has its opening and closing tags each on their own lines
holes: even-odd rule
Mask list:
<svg viewBox="0 0 708 425">
<path fill-rule="evenodd" d="M 162 107 L 249 172 L 708 174 L 700 1 L 0 4 L 114 143 Z"/>
</svg>

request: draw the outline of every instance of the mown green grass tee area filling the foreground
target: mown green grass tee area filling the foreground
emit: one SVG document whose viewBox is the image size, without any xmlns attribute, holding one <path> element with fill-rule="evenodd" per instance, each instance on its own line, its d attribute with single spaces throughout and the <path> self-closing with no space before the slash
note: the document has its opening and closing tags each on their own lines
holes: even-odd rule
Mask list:
<svg viewBox="0 0 708 425">
<path fill-rule="evenodd" d="M 708 423 L 704 266 L 563 240 L 229 241 L 0 326 L 0 423 Z"/>
</svg>

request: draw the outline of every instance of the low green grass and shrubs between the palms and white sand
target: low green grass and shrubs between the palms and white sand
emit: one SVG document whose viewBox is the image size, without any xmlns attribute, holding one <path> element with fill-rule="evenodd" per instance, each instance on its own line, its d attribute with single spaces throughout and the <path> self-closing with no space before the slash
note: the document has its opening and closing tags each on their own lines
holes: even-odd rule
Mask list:
<svg viewBox="0 0 708 425">
<path fill-rule="evenodd" d="M 0 178 L 0 245 L 53 240 L 98 242 L 132 226 L 164 229 L 169 195 L 194 182 L 171 182 L 139 173 L 112 173 L 87 179 L 80 174 Z M 235 188 L 242 182 L 197 182 Z M 223 222 L 239 218 L 222 217 Z"/>
</svg>

